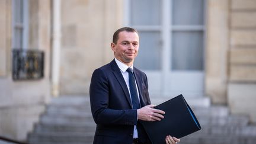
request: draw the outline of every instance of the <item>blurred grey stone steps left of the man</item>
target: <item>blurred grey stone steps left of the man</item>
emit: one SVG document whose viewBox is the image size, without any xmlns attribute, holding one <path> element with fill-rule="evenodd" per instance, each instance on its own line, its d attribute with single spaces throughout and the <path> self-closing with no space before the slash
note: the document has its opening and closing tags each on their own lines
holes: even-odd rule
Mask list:
<svg viewBox="0 0 256 144">
<path fill-rule="evenodd" d="M 34 131 L 28 135 L 31 144 L 91 144 L 95 123 L 89 97 L 61 96 L 53 98 L 41 115 Z"/>
</svg>

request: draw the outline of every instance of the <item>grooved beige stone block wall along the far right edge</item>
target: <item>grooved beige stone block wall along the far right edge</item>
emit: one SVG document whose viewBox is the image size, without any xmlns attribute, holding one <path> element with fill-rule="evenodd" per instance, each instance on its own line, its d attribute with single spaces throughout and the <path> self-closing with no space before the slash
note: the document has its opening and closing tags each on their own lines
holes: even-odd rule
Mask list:
<svg viewBox="0 0 256 144">
<path fill-rule="evenodd" d="M 232 0 L 229 24 L 228 105 L 256 122 L 256 1 Z"/>
</svg>

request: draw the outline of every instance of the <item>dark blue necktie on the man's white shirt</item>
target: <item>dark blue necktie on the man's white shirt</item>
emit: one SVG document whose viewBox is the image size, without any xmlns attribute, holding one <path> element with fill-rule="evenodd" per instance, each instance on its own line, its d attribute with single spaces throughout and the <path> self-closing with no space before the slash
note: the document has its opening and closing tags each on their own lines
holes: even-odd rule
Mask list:
<svg viewBox="0 0 256 144">
<path fill-rule="evenodd" d="M 130 95 L 132 97 L 133 109 L 139 109 L 140 103 L 139 103 L 137 88 L 136 88 L 136 84 L 135 84 L 135 82 L 136 82 L 135 76 L 133 75 L 133 69 L 128 68 L 126 71 L 129 72 Z"/>
</svg>

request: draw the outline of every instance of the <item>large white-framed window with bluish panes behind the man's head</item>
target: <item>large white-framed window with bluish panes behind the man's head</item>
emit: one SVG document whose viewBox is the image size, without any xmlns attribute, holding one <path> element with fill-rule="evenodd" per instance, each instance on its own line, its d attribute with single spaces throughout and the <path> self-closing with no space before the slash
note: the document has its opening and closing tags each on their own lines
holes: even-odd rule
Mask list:
<svg viewBox="0 0 256 144">
<path fill-rule="evenodd" d="M 127 25 L 140 34 L 135 65 L 150 71 L 203 71 L 205 1 L 126 1 Z"/>
</svg>

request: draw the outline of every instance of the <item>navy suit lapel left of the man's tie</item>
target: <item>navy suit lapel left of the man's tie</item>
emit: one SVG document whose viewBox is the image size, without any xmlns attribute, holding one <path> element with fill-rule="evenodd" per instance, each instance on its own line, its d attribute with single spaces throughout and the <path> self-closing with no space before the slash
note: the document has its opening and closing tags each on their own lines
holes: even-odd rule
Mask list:
<svg viewBox="0 0 256 144">
<path fill-rule="evenodd" d="M 126 82 L 124 81 L 123 75 L 120 72 L 119 67 L 117 66 L 116 62 L 114 60 L 112 60 L 112 62 L 110 62 L 110 65 L 112 66 L 113 69 L 113 73 L 117 78 L 117 81 L 119 81 L 119 84 L 121 85 L 121 88 L 124 91 L 124 95 L 130 105 L 130 107 L 132 108 L 132 102 L 130 100 L 130 94 L 126 85 Z"/>
</svg>

